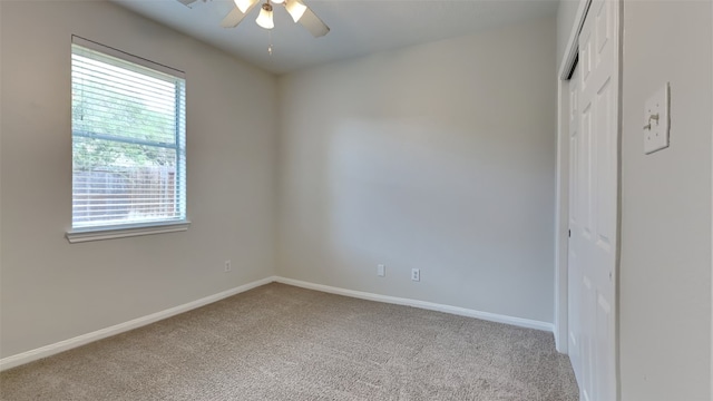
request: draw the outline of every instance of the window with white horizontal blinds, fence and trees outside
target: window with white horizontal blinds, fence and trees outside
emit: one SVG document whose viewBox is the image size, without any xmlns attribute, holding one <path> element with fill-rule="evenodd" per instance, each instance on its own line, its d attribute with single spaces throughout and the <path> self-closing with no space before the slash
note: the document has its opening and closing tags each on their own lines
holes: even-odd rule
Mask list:
<svg viewBox="0 0 713 401">
<path fill-rule="evenodd" d="M 183 72 L 72 37 L 71 96 L 70 242 L 186 224 Z"/>
</svg>

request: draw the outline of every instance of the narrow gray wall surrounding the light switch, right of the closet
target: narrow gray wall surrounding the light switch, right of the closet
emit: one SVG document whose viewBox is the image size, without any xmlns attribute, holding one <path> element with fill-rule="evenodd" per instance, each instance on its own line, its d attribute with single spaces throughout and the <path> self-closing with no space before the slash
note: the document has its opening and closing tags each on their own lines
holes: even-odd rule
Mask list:
<svg viewBox="0 0 713 401">
<path fill-rule="evenodd" d="M 711 2 L 625 1 L 622 400 L 711 397 Z M 646 98 L 671 82 L 671 147 L 644 155 Z"/>
</svg>

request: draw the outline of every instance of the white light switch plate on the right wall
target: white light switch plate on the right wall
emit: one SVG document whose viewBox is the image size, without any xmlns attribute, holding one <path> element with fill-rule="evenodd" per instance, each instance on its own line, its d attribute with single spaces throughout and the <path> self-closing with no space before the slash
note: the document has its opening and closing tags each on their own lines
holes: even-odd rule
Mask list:
<svg viewBox="0 0 713 401">
<path fill-rule="evenodd" d="M 644 110 L 644 153 L 646 155 L 668 147 L 668 82 L 666 82 L 646 100 Z"/>
</svg>

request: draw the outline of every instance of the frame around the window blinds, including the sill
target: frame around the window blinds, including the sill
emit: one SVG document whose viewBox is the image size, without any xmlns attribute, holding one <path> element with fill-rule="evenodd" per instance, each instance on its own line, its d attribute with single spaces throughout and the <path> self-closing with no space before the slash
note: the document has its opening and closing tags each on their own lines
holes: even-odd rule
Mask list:
<svg viewBox="0 0 713 401">
<path fill-rule="evenodd" d="M 179 211 L 179 218 L 170 218 L 170 219 L 158 219 L 152 222 L 135 222 L 135 223 L 126 223 L 126 224 L 105 224 L 105 225 L 87 225 L 87 226 L 74 226 L 74 208 L 71 212 L 71 228 L 66 232 L 66 237 L 70 243 L 81 243 L 88 241 L 101 241 L 101 239 L 111 239 L 111 238 L 121 238 L 129 236 L 140 236 L 140 235 L 149 235 L 149 234 L 163 234 L 163 233 L 176 233 L 184 232 L 188 229 L 191 225 L 191 221 L 187 218 L 187 177 L 186 177 L 186 164 L 187 164 L 187 155 L 186 155 L 186 123 L 185 123 L 185 114 L 186 114 L 186 82 L 185 82 L 185 72 L 177 70 L 172 67 L 167 67 L 162 63 L 157 63 L 152 60 L 144 59 L 141 57 L 137 57 L 121 50 L 104 46 L 101 43 L 97 43 L 89 39 L 85 39 L 78 36 L 72 35 L 71 45 L 77 45 L 79 47 L 97 51 L 108 57 L 114 57 L 120 59 L 126 62 L 130 62 L 140 67 L 145 67 L 158 72 L 163 72 L 178 79 L 183 80 L 183 97 L 177 97 L 176 99 L 176 108 L 183 108 L 183 118 L 178 118 L 177 128 L 176 128 L 176 183 L 177 185 L 182 185 L 183 187 L 178 187 L 176 199 L 176 207 Z M 74 55 L 74 50 L 71 51 Z M 70 128 L 71 137 L 74 141 L 74 124 Z M 91 133 L 86 133 L 89 137 L 94 137 Z M 74 158 L 74 148 L 72 148 L 72 158 Z M 72 168 L 72 182 L 74 182 L 75 172 Z M 72 205 L 74 205 L 74 184 L 72 184 Z"/>
</svg>

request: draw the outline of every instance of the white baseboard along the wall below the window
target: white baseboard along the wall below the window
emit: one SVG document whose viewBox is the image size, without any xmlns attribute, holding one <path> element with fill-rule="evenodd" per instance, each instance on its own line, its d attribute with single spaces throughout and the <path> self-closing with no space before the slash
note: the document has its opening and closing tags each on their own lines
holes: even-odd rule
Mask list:
<svg viewBox="0 0 713 401">
<path fill-rule="evenodd" d="M 45 345 L 35 350 L 30 350 L 27 352 L 22 352 L 16 355 L 11 355 L 11 356 L 7 356 L 3 359 L 0 359 L 0 371 L 10 369 L 10 368 L 14 368 L 25 363 L 29 363 L 42 358 L 47 358 L 57 353 L 60 353 L 62 351 L 67 351 L 67 350 L 71 350 L 77 346 L 81 346 L 85 344 L 88 344 L 90 342 L 95 342 L 97 340 L 101 340 L 101 339 L 106 339 L 108 336 L 111 335 L 116 335 L 116 334 L 120 334 L 124 332 L 127 332 L 129 330 L 134 330 L 134 329 L 138 329 L 140 326 L 145 326 L 147 324 L 154 323 L 154 322 L 158 322 L 160 320 L 177 315 L 179 313 L 184 313 L 184 312 L 188 312 L 191 310 L 194 310 L 196 307 L 201 307 L 204 305 L 207 305 L 209 303 L 213 302 L 217 302 L 221 301 L 223 299 L 226 299 L 228 296 L 233 296 L 235 294 L 240 294 L 242 292 L 258 287 L 261 285 L 265 285 L 268 283 L 272 283 L 275 277 L 265 277 L 252 283 L 247 283 L 245 285 L 241 285 L 238 287 L 232 288 L 232 290 L 227 290 L 214 295 L 209 295 L 206 297 L 203 297 L 201 300 L 196 300 L 193 302 L 188 302 L 186 304 L 183 305 L 178 305 L 172 309 L 167 309 L 165 311 L 160 311 L 160 312 L 156 312 L 156 313 L 152 313 L 149 315 L 143 316 L 143 317 L 138 317 L 138 319 L 134 319 L 130 320 L 128 322 L 124 322 L 124 323 L 119 323 L 116 325 L 113 325 L 110 327 L 106 327 L 106 329 L 101 329 L 101 330 L 97 330 L 95 332 L 91 333 L 87 333 L 87 334 L 82 334 L 82 335 L 78 335 L 74 339 L 69 339 L 69 340 L 65 340 L 65 341 L 60 341 L 53 344 L 49 344 L 49 345 Z"/>
</svg>

